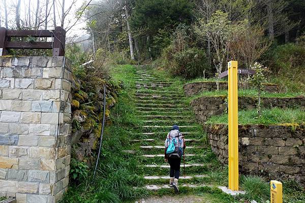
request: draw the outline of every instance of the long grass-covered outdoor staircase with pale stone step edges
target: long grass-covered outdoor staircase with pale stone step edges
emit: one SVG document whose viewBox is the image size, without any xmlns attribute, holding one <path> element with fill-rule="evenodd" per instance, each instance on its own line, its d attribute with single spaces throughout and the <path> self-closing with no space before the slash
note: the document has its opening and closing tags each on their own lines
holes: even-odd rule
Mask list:
<svg viewBox="0 0 305 203">
<path fill-rule="evenodd" d="M 178 125 L 186 139 L 186 176 L 183 160 L 179 186 L 204 185 L 207 171 L 213 167 L 204 161 L 207 147 L 202 143 L 202 127 L 196 123 L 184 94 L 167 78 L 161 78 L 149 66 L 137 66 L 136 109 L 143 126 L 134 129 L 132 150 L 141 156 L 146 188 L 169 188 L 169 165 L 164 162 L 164 140 L 173 125 Z"/>
</svg>

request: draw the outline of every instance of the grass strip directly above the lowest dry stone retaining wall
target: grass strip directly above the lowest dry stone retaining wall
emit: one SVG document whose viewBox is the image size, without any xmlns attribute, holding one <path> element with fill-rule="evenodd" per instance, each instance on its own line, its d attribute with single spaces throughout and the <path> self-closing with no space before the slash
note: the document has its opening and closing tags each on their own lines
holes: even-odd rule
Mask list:
<svg viewBox="0 0 305 203">
<path fill-rule="evenodd" d="M 228 114 L 212 116 L 206 124 L 227 124 Z M 261 117 L 258 117 L 257 111 L 242 110 L 238 111 L 238 124 L 305 124 L 305 111 L 301 109 L 262 109 Z"/>
</svg>

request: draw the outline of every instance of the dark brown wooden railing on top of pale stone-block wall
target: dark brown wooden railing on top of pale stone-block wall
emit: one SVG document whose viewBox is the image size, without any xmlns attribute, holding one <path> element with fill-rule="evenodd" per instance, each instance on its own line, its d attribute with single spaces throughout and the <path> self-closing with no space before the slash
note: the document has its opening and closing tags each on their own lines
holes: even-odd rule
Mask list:
<svg viewBox="0 0 305 203">
<path fill-rule="evenodd" d="M 52 37 L 52 42 L 12 42 L 12 37 Z M 8 30 L 0 28 L 0 56 L 8 55 L 8 49 L 52 49 L 53 56 L 65 56 L 66 31 L 54 30 Z"/>
</svg>

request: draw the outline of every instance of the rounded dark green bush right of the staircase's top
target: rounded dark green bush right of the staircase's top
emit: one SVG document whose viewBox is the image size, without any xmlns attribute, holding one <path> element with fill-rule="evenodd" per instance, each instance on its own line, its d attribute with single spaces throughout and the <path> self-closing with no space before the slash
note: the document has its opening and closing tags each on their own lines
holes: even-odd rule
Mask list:
<svg viewBox="0 0 305 203">
<path fill-rule="evenodd" d="M 172 75 L 185 78 L 206 76 L 208 62 L 206 54 L 198 48 L 190 48 L 173 53 L 171 49 L 166 51 L 167 65 Z"/>
</svg>

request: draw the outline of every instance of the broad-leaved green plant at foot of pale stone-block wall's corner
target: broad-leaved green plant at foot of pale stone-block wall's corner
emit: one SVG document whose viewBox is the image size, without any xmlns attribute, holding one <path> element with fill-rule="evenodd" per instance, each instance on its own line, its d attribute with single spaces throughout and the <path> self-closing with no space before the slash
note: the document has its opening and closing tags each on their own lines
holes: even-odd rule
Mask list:
<svg viewBox="0 0 305 203">
<path fill-rule="evenodd" d="M 71 158 L 71 163 L 70 163 L 70 177 L 73 180 L 76 181 L 81 181 L 88 176 L 88 166 L 86 163 L 79 161 L 75 158 Z"/>
</svg>

